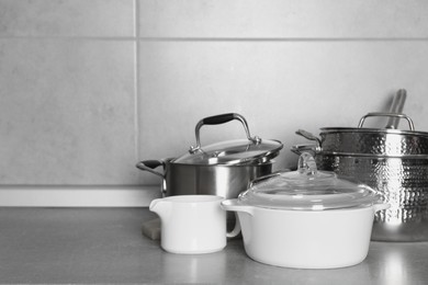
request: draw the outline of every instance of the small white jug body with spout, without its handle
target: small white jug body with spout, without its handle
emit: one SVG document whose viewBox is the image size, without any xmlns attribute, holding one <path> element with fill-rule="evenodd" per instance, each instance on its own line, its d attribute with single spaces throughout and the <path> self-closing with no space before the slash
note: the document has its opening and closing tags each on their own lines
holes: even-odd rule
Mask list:
<svg viewBox="0 0 428 285">
<path fill-rule="evenodd" d="M 210 253 L 226 247 L 226 212 L 222 197 L 184 195 L 154 200 L 150 210 L 160 217 L 160 244 L 171 253 Z"/>
</svg>

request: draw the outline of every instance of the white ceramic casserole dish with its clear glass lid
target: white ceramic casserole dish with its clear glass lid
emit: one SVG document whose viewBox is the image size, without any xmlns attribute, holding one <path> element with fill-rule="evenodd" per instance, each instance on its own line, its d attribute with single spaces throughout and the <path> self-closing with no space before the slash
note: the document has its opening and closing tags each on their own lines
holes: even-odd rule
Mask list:
<svg viewBox="0 0 428 285">
<path fill-rule="evenodd" d="M 386 209 L 378 193 L 333 172 L 317 171 L 302 153 L 297 171 L 254 181 L 238 198 L 222 202 L 237 212 L 247 254 L 296 269 L 335 269 L 362 262 L 374 214 Z"/>
</svg>

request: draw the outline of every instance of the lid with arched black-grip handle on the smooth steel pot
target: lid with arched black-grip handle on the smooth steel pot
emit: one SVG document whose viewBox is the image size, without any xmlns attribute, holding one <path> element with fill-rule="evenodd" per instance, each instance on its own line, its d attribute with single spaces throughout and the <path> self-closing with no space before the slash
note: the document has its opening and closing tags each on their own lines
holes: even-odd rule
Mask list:
<svg viewBox="0 0 428 285">
<path fill-rule="evenodd" d="M 200 128 L 203 125 L 217 125 L 229 121 L 239 121 L 247 135 L 246 139 L 234 139 L 217 144 L 201 146 Z M 174 159 L 173 163 L 199 166 L 237 166 L 263 163 L 277 157 L 282 149 L 281 141 L 251 137 L 247 121 L 239 114 L 227 113 L 201 119 L 195 127 L 196 146 L 190 147 L 188 153 Z"/>
</svg>

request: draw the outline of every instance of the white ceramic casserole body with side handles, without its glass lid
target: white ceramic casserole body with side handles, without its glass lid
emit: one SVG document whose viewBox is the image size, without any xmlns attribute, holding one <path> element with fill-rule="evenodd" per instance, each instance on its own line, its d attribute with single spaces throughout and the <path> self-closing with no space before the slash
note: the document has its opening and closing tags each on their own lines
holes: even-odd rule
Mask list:
<svg viewBox="0 0 428 285">
<path fill-rule="evenodd" d="M 245 251 L 277 266 L 335 269 L 356 265 L 369 252 L 374 213 L 388 204 L 330 210 L 272 209 L 222 203 L 237 212 Z"/>
</svg>

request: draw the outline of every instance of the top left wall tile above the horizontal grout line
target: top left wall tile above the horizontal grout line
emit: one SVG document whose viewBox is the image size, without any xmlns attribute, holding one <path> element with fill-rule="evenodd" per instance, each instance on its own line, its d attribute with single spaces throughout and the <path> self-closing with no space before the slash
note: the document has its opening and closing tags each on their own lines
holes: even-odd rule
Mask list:
<svg viewBox="0 0 428 285">
<path fill-rule="evenodd" d="M 135 35 L 133 0 L 0 0 L 1 36 Z"/>
</svg>

